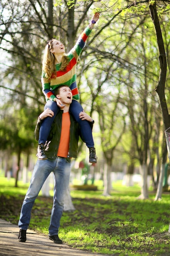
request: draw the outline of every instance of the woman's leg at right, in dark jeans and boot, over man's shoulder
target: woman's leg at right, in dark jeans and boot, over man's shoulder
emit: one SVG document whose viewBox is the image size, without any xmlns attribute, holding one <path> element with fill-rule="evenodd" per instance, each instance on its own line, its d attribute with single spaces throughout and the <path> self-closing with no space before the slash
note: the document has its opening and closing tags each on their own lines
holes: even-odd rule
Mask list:
<svg viewBox="0 0 170 256">
<path fill-rule="evenodd" d="M 90 159 L 89 162 L 96 163 L 97 157 L 95 155 L 95 148 L 94 148 L 94 141 L 93 141 L 93 135 L 92 130 L 89 122 L 87 120 L 82 120 L 79 118 L 79 113 L 83 111 L 82 106 L 80 103 L 76 100 L 73 100 L 70 105 L 70 112 L 77 121 L 77 123 L 80 126 L 82 137 L 84 141 L 86 142 L 86 146 L 90 150 Z"/>
</svg>

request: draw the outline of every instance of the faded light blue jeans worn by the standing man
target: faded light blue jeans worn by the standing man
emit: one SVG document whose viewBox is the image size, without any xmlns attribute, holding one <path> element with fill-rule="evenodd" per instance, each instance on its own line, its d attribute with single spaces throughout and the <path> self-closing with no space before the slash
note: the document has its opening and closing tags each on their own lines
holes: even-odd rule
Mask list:
<svg viewBox="0 0 170 256">
<path fill-rule="evenodd" d="M 51 172 L 54 174 L 54 196 L 49 236 L 57 235 L 60 219 L 64 209 L 64 198 L 69 184 L 71 159 L 57 157 L 57 159 L 38 160 L 35 164 L 29 189 L 25 195 L 18 227 L 27 229 L 31 219 L 31 209 L 42 185 Z"/>
</svg>

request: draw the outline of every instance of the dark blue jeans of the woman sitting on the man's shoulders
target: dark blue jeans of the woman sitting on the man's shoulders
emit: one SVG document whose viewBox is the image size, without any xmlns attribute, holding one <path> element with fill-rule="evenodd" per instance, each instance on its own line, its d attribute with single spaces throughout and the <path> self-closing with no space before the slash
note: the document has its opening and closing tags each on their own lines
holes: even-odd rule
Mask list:
<svg viewBox="0 0 170 256">
<path fill-rule="evenodd" d="M 51 125 L 55 119 L 55 116 L 57 115 L 57 113 L 60 109 L 57 106 L 57 103 L 55 101 L 51 101 L 51 100 L 47 101 L 46 105 L 44 106 L 44 110 L 46 110 L 47 108 L 51 109 L 54 112 L 54 116 L 46 117 L 43 120 L 43 122 L 40 126 L 40 135 L 39 135 L 39 140 L 38 140 L 39 144 L 41 144 L 41 143 L 45 144 L 45 142 L 49 136 L 49 133 L 50 133 Z M 86 142 L 86 146 L 88 148 L 91 148 L 91 147 L 94 147 L 92 130 L 91 130 L 91 126 L 87 120 L 82 120 L 79 118 L 79 113 L 82 111 L 83 111 L 83 108 L 80 105 L 80 103 L 73 99 L 73 101 L 70 105 L 70 112 L 80 126 L 82 137 L 83 137 L 84 141 Z"/>
</svg>

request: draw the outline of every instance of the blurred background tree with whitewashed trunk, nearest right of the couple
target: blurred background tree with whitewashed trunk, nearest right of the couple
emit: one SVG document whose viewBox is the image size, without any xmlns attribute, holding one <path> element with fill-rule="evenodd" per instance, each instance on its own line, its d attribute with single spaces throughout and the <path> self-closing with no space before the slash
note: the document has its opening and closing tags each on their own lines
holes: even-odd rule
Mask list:
<svg viewBox="0 0 170 256">
<path fill-rule="evenodd" d="M 125 131 L 125 115 L 121 113 L 119 93 L 114 97 L 97 97 L 97 112 L 99 113 L 99 126 L 101 130 L 101 146 L 106 160 L 104 167 L 104 191 L 103 195 L 110 195 L 111 171 L 113 171 L 114 152 Z M 100 102 L 100 103 L 99 103 Z"/>
</svg>

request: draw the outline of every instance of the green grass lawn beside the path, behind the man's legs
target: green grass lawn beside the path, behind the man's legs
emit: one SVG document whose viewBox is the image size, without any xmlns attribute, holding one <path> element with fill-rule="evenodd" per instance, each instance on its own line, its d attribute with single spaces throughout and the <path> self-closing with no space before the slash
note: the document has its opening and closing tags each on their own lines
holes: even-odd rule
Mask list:
<svg viewBox="0 0 170 256">
<path fill-rule="evenodd" d="M 0 177 L 0 218 L 18 223 L 22 200 L 28 184 Z M 97 184 L 102 189 L 102 181 Z M 138 185 L 126 187 L 121 181 L 113 183 L 109 197 L 98 191 L 71 191 L 74 212 L 64 212 L 59 236 L 74 248 L 114 256 L 169 256 L 170 196 L 154 201 L 138 200 Z M 52 195 L 52 191 L 51 191 Z M 15 202 L 15 205 L 13 205 Z M 38 196 L 32 209 L 29 228 L 48 234 L 53 199 Z M 6 206 L 6 207 L 5 207 Z M 8 207 L 9 211 L 3 212 Z"/>
</svg>

